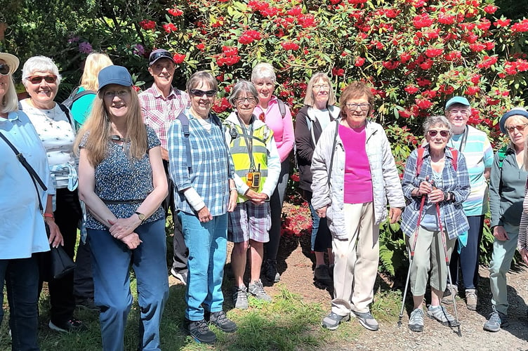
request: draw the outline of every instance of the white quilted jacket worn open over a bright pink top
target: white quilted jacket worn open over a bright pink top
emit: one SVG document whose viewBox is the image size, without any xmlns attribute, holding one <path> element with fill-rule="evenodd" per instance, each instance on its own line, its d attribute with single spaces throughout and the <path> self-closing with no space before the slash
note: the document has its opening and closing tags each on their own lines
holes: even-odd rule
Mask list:
<svg viewBox="0 0 528 351">
<path fill-rule="evenodd" d="M 312 159 L 312 206 L 316 209 L 329 206 L 326 217 L 331 233 L 336 239 L 347 239 L 343 212 L 345 149 L 339 135 L 336 138 L 334 162 L 328 185 L 328 168 L 338 121 L 324 129 L 315 147 Z M 390 144 L 381 125 L 367 121 L 365 150 L 369 158 L 374 194 L 374 220 L 379 225 L 387 218 L 387 201 L 390 207 L 404 207 L 405 199 Z"/>
</svg>

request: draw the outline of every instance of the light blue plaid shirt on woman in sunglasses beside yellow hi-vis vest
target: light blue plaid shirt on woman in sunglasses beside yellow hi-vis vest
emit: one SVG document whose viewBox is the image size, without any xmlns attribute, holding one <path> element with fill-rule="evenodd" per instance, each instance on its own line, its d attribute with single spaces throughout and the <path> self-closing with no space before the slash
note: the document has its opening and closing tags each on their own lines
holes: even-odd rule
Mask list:
<svg viewBox="0 0 528 351">
<path fill-rule="evenodd" d="M 174 182 L 174 205 L 179 211 L 196 214 L 183 195 L 182 190 L 194 187 L 202 197 L 211 216 L 220 216 L 227 212 L 229 201 L 229 180 L 233 178 L 235 168 L 220 126 L 211 119 L 211 131 L 207 131 L 200 121 L 190 114 L 183 113 L 189 119 L 189 142 L 192 167 L 187 168 L 185 136 L 179 119 L 169 127 L 167 142 L 169 147 L 169 171 Z"/>
</svg>

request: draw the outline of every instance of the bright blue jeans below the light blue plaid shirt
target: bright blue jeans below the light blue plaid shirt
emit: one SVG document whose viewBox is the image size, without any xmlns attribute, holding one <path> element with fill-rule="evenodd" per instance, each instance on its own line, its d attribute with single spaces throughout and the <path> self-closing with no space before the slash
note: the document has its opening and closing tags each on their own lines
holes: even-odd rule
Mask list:
<svg viewBox="0 0 528 351">
<path fill-rule="evenodd" d="M 197 216 L 181 212 L 185 244 L 189 248 L 185 318 L 204 319 L 209 312 L 222 310 L 224 296 L 222 280 L 227 255 L 227 213 L 201 223 Z M 203 304 L 203 305 L 202 305 Z"/>
</svg>

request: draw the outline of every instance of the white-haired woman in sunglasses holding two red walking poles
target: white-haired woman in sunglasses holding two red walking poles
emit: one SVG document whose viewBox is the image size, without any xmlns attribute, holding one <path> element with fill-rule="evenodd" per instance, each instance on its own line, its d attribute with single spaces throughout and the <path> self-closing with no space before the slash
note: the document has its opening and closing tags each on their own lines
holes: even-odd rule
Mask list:
<svg viewBox="0 0 528 351">
<path fill-rule="evenodd" d="M 459 325 L 458 316 L 449 314 L 440 299 L 449 274 L 446 257 L 451 256 L 456 238 L 469 227 L 462 208 L 470 192 L 468 168 L 463 154 L 447 147 L 451 124 L 443 116 L 428 117 L 423 130 L 427 143 L 411 152 L 402 183 L 408 201 L 402 231 L 407 236 L 407 249 L 414 253 L 409 265 L 414 301 L 409 317 L 411 331 L 423 331 L 422 305 L 429 271 L 428 316 L 446 326 Z"/>
</svg>

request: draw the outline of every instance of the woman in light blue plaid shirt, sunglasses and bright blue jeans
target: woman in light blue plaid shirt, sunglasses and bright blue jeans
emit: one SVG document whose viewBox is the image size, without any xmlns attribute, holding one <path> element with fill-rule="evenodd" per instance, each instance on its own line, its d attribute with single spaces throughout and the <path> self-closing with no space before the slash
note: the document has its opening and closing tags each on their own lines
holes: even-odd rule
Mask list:
<svg viewBox="0 0 528 351">
<path fill-rule="evenodd" d="M 187 81 L 191 106 L 183 112 L 187 121 L 176 119 L 168 135 L 174 206 L 189 249 L 185 329 L 199 343 L 216 341 L 208 322 L 228 333 L 237 329 L 223 312 L 221 289 L 227 255 L 227 212 L 235 209 L 237 188 L 220 121 L 210 113 L 217 91 L 216 79 L 209 72 L 192 74 Z M 189 135 L 183 132 L 186 124 Z"/>
</svg>

